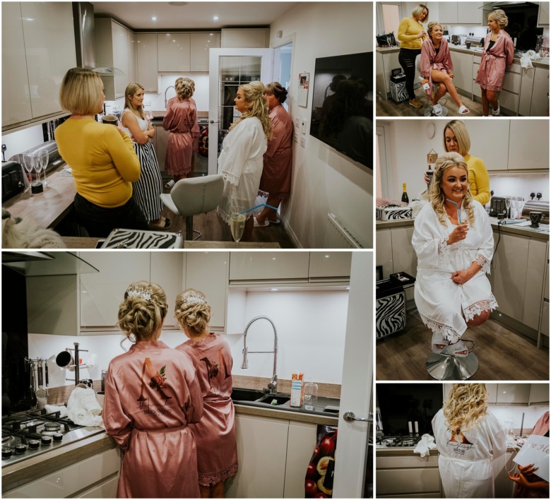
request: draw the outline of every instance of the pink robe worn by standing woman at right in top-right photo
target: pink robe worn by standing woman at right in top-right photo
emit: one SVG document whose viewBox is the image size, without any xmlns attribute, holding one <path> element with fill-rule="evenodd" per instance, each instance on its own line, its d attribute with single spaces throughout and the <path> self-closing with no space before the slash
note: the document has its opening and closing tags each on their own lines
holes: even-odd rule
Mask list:
<svg viewBox="0 0 551 500">
<path fill-rule="evenodd" d="M 491 32 L 486 35 L 484 41 L 484 52 L 482 52 L 475 83 L 478 83 L 480 88 L 497 91 L 502 90 L 505 69 L 513 64 L 515 47 L 509 33 L 501 30 L 494 46 L 488 50 L 490 37 L 492 37 Z"/>
</svg>

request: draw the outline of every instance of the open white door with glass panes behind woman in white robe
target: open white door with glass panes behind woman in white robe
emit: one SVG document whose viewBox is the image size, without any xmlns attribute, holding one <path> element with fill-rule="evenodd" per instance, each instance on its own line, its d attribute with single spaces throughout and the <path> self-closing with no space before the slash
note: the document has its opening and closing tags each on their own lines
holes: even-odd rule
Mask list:
<svg viewBox="0 0 551 500">
<path fill-rule="evenodd" d="M 239 116 L 234 102 L 242 83 L 272 81 L 273 49 L 211 49 L 208 82 L 208 174 L 218 171 L 218 149 Z M 220 131 L 220 136 L 218 132 Z"/>
</svg>

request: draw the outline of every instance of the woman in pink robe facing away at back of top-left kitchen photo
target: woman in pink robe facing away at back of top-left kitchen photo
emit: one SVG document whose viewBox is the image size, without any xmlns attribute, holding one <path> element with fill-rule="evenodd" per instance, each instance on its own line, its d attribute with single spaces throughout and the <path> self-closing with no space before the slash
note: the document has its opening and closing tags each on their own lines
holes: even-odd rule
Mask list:
<svg viewBox="0 0 551 500">
<path fill-rule="evenodd" d="M 165 170 L 174 182 L 194 176 L 194 152 L 199 148 L 197 107 L 191 98 L 195 83 L 191 78 L 178 78 L 174 84 L 177 96 L 167 104 L 162 128 L 169 130 Z"/>
</svg>

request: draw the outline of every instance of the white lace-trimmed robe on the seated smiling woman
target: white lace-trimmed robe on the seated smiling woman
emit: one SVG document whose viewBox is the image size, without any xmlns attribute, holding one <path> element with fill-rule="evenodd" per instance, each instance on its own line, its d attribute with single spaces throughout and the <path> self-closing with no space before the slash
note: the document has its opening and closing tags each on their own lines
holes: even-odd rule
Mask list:
<svg viewBox="0 0 551 500">
<path fill-rule="evenodd" d="M 486 277 L 494 251 L 492 227 L 484 207 L 478 201 L 472 203 L 475 223 L 469 224 L 466 239 L 451 245 L 447 241 L 455 226 L 448 218 L 446 225 L 442 225 L 430 203 L 415 218 L 412 238 L 417 253 L 415 304 L 423 323 L 450 342 L 456 342 L 465 333 L 466 321 L 497 307 Z M 461 220 L 468 221 L 467 210 L 463 208 Z M 473 278 L 463 285 L 451 279 L 452 273 L 467 269 L 473 262 L 482 266 Z"/>
</svg>

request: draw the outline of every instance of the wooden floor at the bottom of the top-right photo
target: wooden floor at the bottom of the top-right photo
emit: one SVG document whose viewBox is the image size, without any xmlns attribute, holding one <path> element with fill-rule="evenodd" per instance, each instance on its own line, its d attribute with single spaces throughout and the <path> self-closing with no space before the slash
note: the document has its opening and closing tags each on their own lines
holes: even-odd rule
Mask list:
<svg viewBox="0 0 551 500">
<path fill-rule="evenodd" d="M 429 106 L 430 101 L 425 94 L 425 90 L 418 88 L 415 90 L 415 97 L 419 100 L 423 107 L 415 108 L 409 105 L 408 101 L 394 102 L 393 100 L 377 100 L 377 117 L 423 117 L 425 108 Z M 458 112 L 458 105 L 454 102 L 449 94 L 446 93 L 441 100 L 439 100 L 442 106 L 448 109 L 448 117 L 482 117 L 482 103 L 470 100 L 464 95 L 459 95 L 463 106 L 466 106 L 470 111 L 468 114 L 461 114 Z"/>
</svg>

